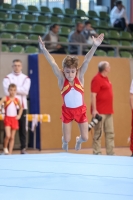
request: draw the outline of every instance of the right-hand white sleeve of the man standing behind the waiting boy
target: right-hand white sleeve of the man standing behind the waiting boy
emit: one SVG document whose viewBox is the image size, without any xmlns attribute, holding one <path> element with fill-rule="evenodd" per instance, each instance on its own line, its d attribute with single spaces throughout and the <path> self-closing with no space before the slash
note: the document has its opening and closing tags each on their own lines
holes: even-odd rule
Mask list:
<svg viewBox="0 0 133 200">
<path fill-rule="evenodd" d="M 30 85 L 31 85 L 31 80 L 30 78 L 27 77 L 22 86 L 17 86 L 17 94 L 27 96 L 29 94 Z"/>
</svg>

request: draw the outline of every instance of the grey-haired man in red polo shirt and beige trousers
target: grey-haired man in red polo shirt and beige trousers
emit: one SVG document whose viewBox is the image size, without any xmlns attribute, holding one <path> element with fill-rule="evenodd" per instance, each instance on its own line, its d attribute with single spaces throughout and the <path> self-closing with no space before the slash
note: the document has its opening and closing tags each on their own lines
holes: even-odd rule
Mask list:
<svg viewBox="0 0 133 200">
<path fill-rule="evenodd" d="M 110 65 L 102 61 L 98 65 L 99 72 L 91 81 L 91 111 L 92 116 L 102 116 L 102 121 L 94 127 L 93 154 L 101 154 L 101 137 L 105 133 L 107 155 L 114 155 L 114 126 L 113 126 L 113 90 L 108 79 Z"/>
</svg>

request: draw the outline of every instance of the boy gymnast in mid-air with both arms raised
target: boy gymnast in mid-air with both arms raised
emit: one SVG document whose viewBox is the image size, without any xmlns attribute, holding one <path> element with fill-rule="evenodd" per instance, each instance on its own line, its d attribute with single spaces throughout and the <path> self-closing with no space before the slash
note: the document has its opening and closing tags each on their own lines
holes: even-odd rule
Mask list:
<svg viewBox="0 0 133 200">
<path fill-rule="evenodd" d="M 66 56 L 62 62 L 63 71 L 59 69 L 54 58 L 45 48 L 41 37 L 39 36 L 39 45 L 44 56 L 52 67 L 55 76 L 58 79 L 58 86 L 63 97 L 62 106 L 62 148 L 68 151 L 68 142 L 71 139 L 72 121 L 75 120 L 80 129 L 80 136 L 76 137 L 75 149 L 81 149 L 81 143 L 88 140 L 88 120 L 86 117 L 86 105 L 84 104 L 84 74 L 88 64 L 93 57 L 97 47 L 102 43 L 104 34 L 93 38 L 93 46 L 86 54 L 84 62 L 78 68 L 78 58 L 75 56 Z"/>
</svg>

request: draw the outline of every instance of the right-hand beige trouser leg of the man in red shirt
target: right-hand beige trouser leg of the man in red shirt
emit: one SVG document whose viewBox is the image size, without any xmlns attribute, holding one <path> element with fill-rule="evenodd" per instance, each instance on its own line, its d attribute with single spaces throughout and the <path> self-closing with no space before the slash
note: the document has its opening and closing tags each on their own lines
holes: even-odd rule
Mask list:
<svg viewBox="0 0 133 200">
<path fill-rule="evenodd" d="M 104 123 L 105 146 L 107 155 L 114 155 L 114 125 L 113 116 L 106 115 Z"/>
</svg>

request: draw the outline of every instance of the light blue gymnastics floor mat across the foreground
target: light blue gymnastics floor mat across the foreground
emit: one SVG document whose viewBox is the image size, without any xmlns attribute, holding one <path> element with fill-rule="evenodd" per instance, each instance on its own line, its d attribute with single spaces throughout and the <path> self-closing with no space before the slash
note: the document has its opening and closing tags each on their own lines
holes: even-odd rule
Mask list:
<svg viewBox="0 0 133 200">
<path fill-rule="evenodd" d="M 0 200 L 133 200 L 133 158 L 2 155 Z"/>
</svg>

